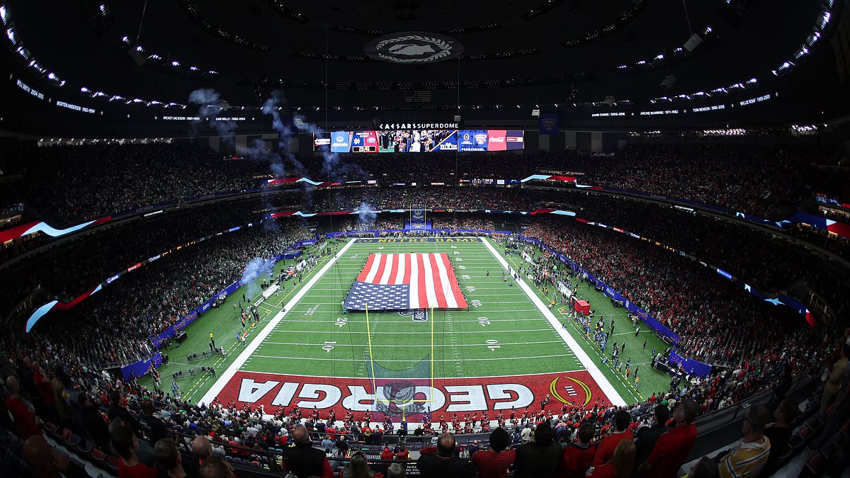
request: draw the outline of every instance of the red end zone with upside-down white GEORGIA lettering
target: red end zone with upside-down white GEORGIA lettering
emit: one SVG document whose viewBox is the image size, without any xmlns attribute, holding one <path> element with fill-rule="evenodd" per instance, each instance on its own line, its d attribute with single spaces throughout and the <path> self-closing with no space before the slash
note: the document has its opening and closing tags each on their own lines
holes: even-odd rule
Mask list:
<svg viewBox="0 0 850 478">
<path fill-rule="evenodd" d="M 378 390 L 375 403 L 374 388 Z M 560 411 L 563 403 L 592 407 L 597 399 L 610 404 L 596 381 L 587 371 L 542 373 L 512 377 L 435 378 L 428 380 L 383 380 L 377 387 L 367 378 L 323 378 L 282 375 L 278 373 L 236 372 L 218 394 L 223 403 L 235 401 L 237 406 L 265 406 L 266 413 L 276 407 L 314 408 L 337 416 L 348 411 L 390 413 L 407 416 L 424 413 L 490 412 L 531 407 L 539 410 L 546 395 L 552 399 L 547 409 Z"/>
</svg>

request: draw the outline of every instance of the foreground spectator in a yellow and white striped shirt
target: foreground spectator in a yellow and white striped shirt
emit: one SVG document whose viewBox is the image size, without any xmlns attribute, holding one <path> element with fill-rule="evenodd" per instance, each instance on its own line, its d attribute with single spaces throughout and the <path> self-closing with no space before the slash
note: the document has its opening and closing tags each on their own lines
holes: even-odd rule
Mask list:
<svg viewBox="0 0 850 478">
<path fill-rule="evenodd" d="M 768 424 L 768 409 L 762 405 L 750 407 L 744 418 L 744 438 L 719 461 L 721 478 L 757 476 L 768 463 L 770 439 L 764 435 Z"/>
</svg>

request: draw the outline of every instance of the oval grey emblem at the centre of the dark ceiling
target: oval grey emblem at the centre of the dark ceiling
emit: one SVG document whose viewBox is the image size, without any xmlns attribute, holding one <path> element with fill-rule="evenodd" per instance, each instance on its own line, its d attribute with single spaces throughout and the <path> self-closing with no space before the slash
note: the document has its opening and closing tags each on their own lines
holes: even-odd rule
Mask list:
<svg viewBox="0 0 850 478">
<path fill-rule="evenodd" d="M 422 64 L 455 58 L 463 53 L 463 45 L 439 33 L 404 31 L 375 38 L 366 43 L 363 52 L 389 63 Z"/>
</svg>

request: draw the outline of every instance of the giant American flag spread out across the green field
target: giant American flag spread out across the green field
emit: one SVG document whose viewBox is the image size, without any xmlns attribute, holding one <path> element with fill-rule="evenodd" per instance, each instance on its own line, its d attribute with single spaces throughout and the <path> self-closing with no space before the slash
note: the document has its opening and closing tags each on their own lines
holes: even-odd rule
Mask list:
<svg viewBox="0 0 850 478">
<path fill-rule="evenodd" d="M 369 255 L 345 299 L 348 310 L 466 309 L 445 253 Z"/>
</svg>

